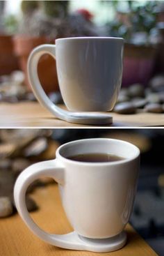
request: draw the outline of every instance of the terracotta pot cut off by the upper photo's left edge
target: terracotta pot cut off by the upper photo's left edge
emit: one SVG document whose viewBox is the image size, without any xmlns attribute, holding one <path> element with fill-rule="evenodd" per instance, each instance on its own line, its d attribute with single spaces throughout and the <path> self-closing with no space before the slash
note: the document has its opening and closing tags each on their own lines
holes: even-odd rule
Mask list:
<svg viewBox="0 0 164 256">
<path fill-rule="evenodd" d="M 12 36 L 0 34 L 0 75 L 8 75 L 18 69 L 12 38 Z"/>
</svg>

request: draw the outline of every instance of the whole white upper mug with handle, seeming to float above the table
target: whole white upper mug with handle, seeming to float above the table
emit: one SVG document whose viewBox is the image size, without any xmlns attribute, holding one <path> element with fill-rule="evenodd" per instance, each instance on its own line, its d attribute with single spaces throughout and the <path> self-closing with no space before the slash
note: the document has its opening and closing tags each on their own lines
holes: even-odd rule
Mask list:
<svg viewBox="0 0 164 256">
<path fill-rule="evenodd" d="M 60 119 L 74 123 L 111 123 L 112 110 L 122 82 L 122 38 L 60 38 L 56 45 L 36 47 L 28 59 L 28 79 L 39 102 Z M 67 109 L 51 103 L 38 79 L 43 54 L 56 59 L 58 82 Z M 75 112 L 75 113 L 74 113 Z M 84 112 L 84 113 L 79 113 Z"/>
</svg>

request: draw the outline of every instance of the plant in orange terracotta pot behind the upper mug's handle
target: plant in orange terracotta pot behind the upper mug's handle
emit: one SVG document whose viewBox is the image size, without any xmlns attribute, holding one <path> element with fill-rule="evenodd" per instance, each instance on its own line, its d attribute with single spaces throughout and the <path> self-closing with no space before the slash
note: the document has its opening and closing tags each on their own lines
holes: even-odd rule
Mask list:
<svg viewBox="0 0 164 256">
<path fill-rule="evenodd" d="M 54 43 L 54 38 L 48 34 L 49 27 L 52 27 L 51 17 L 47 17 L 46 13 L 40 10 L 40 1 L 22 1 L 21 8 L 22 23 L 19 26 L 19 33 L 14 37 L 14 45 L 20 68 L 25 74 L 25 83 L 31 90 L 27 77 L 28 56 L 34 47 L 45 43 Z M 40 59 L 38 75 L 44 91 L 49 93 L 58 90 L 56 61 L 49 55 Z"/>
</svg>

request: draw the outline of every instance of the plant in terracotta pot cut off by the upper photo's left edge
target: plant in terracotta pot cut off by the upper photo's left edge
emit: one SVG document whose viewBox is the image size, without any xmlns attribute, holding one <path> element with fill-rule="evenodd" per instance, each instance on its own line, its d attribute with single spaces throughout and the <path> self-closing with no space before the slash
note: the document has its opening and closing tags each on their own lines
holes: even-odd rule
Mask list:
<svg viewBox="0 0 164 256">
<path fill-rule="evenodd" d="M 18 68 L 17 57 L 13 50 L 13 36 L 12 33 L 8 33 L 4 22 L 6 20 L 4 15 L 5 2 L 0 1 L 0 75 L 8 75 Z M 11 22 L 12 20 L 10 20 Z"/>
</svg>

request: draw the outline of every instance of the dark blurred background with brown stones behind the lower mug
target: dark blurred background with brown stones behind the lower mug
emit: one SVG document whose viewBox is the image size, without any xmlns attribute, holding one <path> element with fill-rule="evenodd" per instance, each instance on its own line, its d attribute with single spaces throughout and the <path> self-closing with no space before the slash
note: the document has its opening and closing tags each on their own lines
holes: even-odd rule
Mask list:
<svg viewBox="0 0 164 256">
<path fill-rule="evenodd" d="M 16 213 L 13 186 L 22 170 L 42 160 L 56 157 L 60 144 L 93 137 L 110 137 L 131 142 L 141 151 L 138 193 L 131 224 L 158 255 L 164 255 L 164 162 L 163 129 L 1 129 L 0 130 L 0 218 Z M 31 193 L 49 186 L 51 179 L 40 179 L 28 188 L 28 211 L 42 211 Z M 2 202 L 6 204 L 2 204 Z"/>
</svg>

